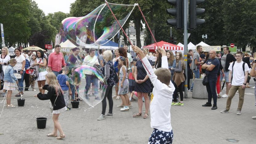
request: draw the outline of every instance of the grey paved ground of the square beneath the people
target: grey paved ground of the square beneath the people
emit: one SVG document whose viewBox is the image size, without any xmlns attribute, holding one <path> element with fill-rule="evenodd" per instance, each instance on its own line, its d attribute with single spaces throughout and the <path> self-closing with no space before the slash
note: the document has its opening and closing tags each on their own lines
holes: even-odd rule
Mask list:
<svg viewBox="0 0 256 144">
<path fill-rule="evenodd" d="M 114 88 L 113 88 L 114 90 Z M 225 92 L 225 91 L 223 91 Z M 224 94 L 222 92 L 222 94 Z M 13 97 L 16 92 L 13 92 Z M 38 91 L 26 91 L 25 96 L 33 96 Z M 256 137 L 256 115 L 254 88 L 247 88 L 242 115 L 236 115 L 238 94 L 232 99 L 230 113 L 221 114 L 226 106 L 226 98 L 218 99 L 217 110 L 202 107 L 207 100 L 193 99 L 192 93 L 184 99 L 184 106 L 171 107 L 171 124 L 174 132 L 174 144 L 228 144 L 226 139 L 234 138 L 238 143 L 254 144 Z M 114 95 L 114 92 L 113 92 Z M 3 98 L 3 97 L 0 97 Z M 80 102 L 78 109 L 60 114 L 59 122 L 66 138 L 57 140 L 47 137 L 52 132 L 53 121 L 49 110 L 49 100 L 26 98 L 25 106 L 18 107 L 17 100 L 12 99 L 16 108 L 4 107 L 0 117 L 1 144 L 31 143 L 86 143 L 86 144 L 144 144 L 152 132 L 150 118 L 133 118 L 138 112 L 137 98 L 132 102 L 133 108 L 122 112 L 116 106 L 121 100 L 114 99 L 113 118 L 102 121 L 96 119 L 101 114 L 101 103 L 94 108 Z M 2 102 L 2 101 L 0 101 Z M 0 112 L 3 103 L 0 103 Z M 71 106 L 72 107 L 72 106 Z M 143 104 L 143 110 L 145 106 Z M 108 106 L 107 110 L 108 111 Z M 37 129 L 36 118 L 46 117 L 45 129 Z"/>
</svg>

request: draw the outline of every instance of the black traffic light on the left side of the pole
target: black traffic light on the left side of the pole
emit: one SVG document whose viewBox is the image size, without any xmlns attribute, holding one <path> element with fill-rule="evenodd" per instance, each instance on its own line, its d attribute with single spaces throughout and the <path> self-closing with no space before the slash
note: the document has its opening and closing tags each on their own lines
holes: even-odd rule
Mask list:
<svg viewBox="0 0 256 144">
<path fill-rule="evenodd" d="M 167 9 L 167 13 L 175 16 L 175 19 L 168 19 L 167 24 L 175 26 L 177 30 L 184 28 L 183 25 L 183 0 L 167 0 L 168 3 L 174 5 L 174 9 Z"/>
</svg>

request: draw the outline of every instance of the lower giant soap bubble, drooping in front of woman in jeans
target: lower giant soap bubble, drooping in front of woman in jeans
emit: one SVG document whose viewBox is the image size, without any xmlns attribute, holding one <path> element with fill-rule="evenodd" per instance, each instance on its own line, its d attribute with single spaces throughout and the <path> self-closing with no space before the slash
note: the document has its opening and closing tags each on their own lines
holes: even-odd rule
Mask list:
<svg viewBox="0 0 256 144">
<path fill-rule="evenodd" d="M 99 70 L 99 66 L 90 66 L 90 64 L 97 63 L 97 57 L 87 58 L 87 61 L 80 66 L 69 67 L 72 70 L 72 79 L 76 85 L 78 96 L 82 98 L 89 106 L 96 106 L 100 103 L 106 92 L 107 84 L 103 81 L 104 76 Z"/>
</svg>

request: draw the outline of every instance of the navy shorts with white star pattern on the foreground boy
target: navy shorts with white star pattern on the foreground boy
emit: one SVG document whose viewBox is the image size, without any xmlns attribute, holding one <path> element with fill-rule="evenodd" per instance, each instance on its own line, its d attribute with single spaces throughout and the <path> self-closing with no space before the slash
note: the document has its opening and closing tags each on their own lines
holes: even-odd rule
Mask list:
<svg viewBox="0 0 256 144">
<path fill-rule="evenodd" d="M 148 139 L 148 144 L 171 144 L 173 141 L 173 132 L 165 132 L 154 129 L 151 137 Z"/>
</svg>

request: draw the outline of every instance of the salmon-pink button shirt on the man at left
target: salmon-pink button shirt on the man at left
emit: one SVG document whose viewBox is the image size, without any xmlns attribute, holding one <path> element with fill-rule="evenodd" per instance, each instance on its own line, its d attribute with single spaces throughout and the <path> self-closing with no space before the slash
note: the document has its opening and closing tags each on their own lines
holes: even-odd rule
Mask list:
<svg viewBox="0 0 256 144">
<path fill-rule="evenodd" d="M 62 66 L 66 66 L 63 54 L 56 54 L 56 52 L 51 53 L 48 58 L 48 67 L 51 67 L 53 71 L 60 71 Z"/>
</svg>

